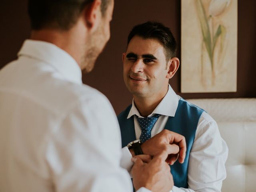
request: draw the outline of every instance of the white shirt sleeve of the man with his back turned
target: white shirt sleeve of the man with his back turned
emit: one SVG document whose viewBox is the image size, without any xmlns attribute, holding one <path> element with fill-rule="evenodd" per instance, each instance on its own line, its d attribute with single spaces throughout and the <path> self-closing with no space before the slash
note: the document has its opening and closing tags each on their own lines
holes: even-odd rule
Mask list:
<svg viewBox="0 0 256 192">
<path fill-rule="evenodd" d="M 120 167 L 121 138 L 114 110 L 96 94 L 63 115 L 46 147 L 53 187 L 61 192 L 132 192 Z"/>
</svg>

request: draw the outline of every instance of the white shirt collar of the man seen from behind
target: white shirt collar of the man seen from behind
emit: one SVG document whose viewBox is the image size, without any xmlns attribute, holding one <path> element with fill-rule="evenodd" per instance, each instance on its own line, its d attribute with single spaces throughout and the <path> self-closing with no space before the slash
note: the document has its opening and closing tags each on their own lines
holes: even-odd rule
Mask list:
<svg viewBox="0 0 256 192">
<path fill-rule="evenodd" d="M 82 72 L 77 62 L 58 46 L 44 41 L 25 40 L 18 52 L 19 56 L 26 56 L 41 60 L 60 72 L 64 78 L 76 84 L 82 84 Z"/>
</svg>

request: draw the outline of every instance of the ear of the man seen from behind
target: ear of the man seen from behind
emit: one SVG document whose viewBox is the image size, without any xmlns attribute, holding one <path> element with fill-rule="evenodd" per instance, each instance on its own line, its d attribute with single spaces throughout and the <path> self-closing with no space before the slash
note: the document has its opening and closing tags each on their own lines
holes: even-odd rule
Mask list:
<svg viewBox="0 0 256 192">
<path fill-rule="evenodd" d="M 94 0 L 84 8 L 83 16 L 88 30 L 94 31 L 97 29 L 102 20 L 100 5 L 101 0 Z"/>
</svg>

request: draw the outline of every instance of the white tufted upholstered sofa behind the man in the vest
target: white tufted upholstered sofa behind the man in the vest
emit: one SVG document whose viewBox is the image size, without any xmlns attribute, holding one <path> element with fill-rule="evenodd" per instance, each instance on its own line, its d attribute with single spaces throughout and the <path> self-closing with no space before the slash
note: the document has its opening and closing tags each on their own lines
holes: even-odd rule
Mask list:
<svg viewBox="0 0 256 192">
<path fill-rule="evenodd" d="M 191 99 L 218 123 L 229 153 L 222 192 L 256 192 L 256 98 Z"/>
</svg>

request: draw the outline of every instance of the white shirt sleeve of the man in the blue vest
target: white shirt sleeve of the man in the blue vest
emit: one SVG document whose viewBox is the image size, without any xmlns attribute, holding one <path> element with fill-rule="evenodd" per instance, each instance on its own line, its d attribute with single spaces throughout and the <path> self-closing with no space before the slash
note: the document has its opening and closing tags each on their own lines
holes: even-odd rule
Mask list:
<svg viewBox="0 0 256 192">
<path fill-rule="evenodd" d="M 228 146 L 221 138 L 217 123 L 206 112 L 198 122 L 188 162 L 188 188 L 173 192 L 220 192 L 226 178 Z"/>
</svg>

